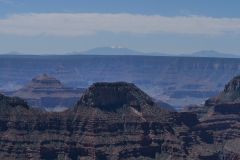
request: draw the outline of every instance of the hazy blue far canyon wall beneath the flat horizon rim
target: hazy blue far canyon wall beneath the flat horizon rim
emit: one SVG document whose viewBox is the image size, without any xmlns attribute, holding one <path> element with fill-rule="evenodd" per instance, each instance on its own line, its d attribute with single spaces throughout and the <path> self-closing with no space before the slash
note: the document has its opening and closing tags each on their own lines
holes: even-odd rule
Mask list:
<svg viewBox="0 0 240 160">
<path fill-rule="evenodd" d="M 32 65 L 36 67 L 32 67 Z M 240 59 L 167 56 L 0 56 L 0 90 L 15 90 L 26 77 L 51 73 L 68 86 L 133 82 L 173 106 L 200 104 L 240 73 Z"/>
</svg>

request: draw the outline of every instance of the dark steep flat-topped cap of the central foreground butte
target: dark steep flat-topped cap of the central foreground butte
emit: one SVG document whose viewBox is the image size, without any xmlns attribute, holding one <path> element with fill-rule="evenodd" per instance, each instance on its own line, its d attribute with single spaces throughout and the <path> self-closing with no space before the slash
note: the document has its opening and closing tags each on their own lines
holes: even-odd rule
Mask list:
<svg viewBox="0 0 240 160">
<path fill-rule="evenodd" d="M 131 106 L 139 111 L 143 105 L 153 105 L 152 99 L 134 84 L 125 82 L 95 83 L 78 102 L 78 106 L 98 107 L 103 110 Z"/>
</svg>

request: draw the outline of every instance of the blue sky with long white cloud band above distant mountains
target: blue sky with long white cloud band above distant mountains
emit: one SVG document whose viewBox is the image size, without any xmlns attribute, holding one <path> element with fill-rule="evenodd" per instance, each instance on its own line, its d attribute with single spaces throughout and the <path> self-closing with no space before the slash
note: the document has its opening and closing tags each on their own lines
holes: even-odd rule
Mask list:
<svg viewBox="0 0 240 160">
<path fill-rule="evenodd" d="M 0 0 L 0 54 L 120 46 L 240 55 L 239 0 Z"/>
</svg>

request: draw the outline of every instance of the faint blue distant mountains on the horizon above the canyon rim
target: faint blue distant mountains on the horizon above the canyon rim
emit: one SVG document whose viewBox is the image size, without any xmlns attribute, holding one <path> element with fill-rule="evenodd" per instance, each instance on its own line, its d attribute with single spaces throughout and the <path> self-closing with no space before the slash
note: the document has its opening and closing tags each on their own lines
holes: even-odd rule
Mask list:
<svg viewBox="0 0 240 160">
<path fill-rule="evenodd" d="M 21 52 L 8 52 L 2 55 L 31 55 Z M 177 56 L 177 57 L 216 57 L 216 58 L 240 58 L 240 55 L 222 53 L 214 50 L 202 50 L 194 53 L 167 54 L 161 52 L 141 52 L 123 47 L 97 47 L 87 51 L 70 52 L 66 55 L 147 55 L 147 56 Z"/>
</svg>

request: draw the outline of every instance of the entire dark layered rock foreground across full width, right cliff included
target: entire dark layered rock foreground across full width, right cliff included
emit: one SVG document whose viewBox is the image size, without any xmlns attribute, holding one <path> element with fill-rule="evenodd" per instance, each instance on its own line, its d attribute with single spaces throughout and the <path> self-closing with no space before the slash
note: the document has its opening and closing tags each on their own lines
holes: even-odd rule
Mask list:
<svg viewBox="0 0 240 160">
<path fill-rule="evenodd" d="M 240 105 L 209 101 L 201 112 L 169 111 L 126 82 L 94 83 L 64 112 L 1 95 L 0 159 L 237 160 Z"/>
</svg>

